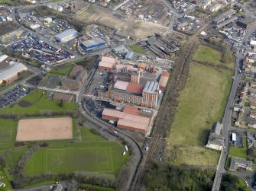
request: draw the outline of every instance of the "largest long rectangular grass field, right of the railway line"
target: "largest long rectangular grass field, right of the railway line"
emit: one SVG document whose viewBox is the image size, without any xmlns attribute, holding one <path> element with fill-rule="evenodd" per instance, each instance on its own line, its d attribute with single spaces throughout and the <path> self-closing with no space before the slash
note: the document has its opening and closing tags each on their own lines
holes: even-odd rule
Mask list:
<svg viewBox="0 0 256 191">
<path fill-rule="evenodd" d="M 190 78 L 179 98 L 179 107 L 165 158 L 172 164 L 215 165 L 219 151 L 204 148 L 212 124 L 221 121 L 232 86 L 230 72 L 190 65 Z"/>
</svg>

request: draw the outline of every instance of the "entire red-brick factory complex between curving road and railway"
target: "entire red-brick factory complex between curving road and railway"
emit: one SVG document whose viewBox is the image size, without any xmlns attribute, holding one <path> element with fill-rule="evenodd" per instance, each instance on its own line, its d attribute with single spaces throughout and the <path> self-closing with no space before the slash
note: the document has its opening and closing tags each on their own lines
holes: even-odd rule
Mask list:
<svg viewBox="0 0 256 191">
<path fill-rule="evenodd" d="M 170 73 L 143 62 L 102 56 L 97 74 L 87 95 L 118 106 L 115 110 L 102 108 L 102 119 L 118 128 L 149 133 Z"/>
</svg>

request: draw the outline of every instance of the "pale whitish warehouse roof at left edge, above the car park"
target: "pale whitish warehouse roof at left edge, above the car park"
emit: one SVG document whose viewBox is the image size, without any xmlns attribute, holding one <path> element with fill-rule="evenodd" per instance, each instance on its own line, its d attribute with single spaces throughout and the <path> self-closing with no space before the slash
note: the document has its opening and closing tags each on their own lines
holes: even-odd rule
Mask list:
<svg viewBox="0 0 256 191">
<path fill-rule="evenodd" d="M 19 62 L 11 61 L 10 65 L 0 70 L 0 82 L 3 80 L 8 80 L 14 75 L 17 75 L 18 72 L 27 70 L 28 68 Z"/>
</svg>

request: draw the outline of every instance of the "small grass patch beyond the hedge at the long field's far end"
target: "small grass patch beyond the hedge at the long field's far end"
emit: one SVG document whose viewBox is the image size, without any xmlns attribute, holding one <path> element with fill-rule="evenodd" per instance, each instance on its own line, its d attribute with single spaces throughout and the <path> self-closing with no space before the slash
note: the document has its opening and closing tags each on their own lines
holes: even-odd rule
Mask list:
<svg viewBox="0 0 256 191">
<path fill-rule="evenodd" d="M 228 68 L 233 69 L 235 62 L 223 63 L 221 61 L 222 53 L 216 49 L 212 49 L 210 46 L 199 45 L 195 55 L 193 56 L 193 60 L 201 61 L 201 62 L 210 62 L 216 65 L 224 65 Z"/>
</svg>

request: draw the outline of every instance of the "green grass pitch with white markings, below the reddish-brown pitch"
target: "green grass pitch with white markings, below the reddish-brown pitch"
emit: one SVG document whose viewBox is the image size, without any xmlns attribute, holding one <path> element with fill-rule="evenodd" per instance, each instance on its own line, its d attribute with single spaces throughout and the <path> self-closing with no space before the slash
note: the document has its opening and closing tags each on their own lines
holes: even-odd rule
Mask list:
<svg viewBox="0 0 256 191">
<path fill-rule="evenodd" d="M 64 147 L 50 143 L 48 148 L 41 148 L 33 154 L 24 173 L 29 176 L 75 171 L 118 173 L 128 159 L 128 154 L 123 156 L 122 151 L 118 142 L 79 142 Z"/>
</svg>

